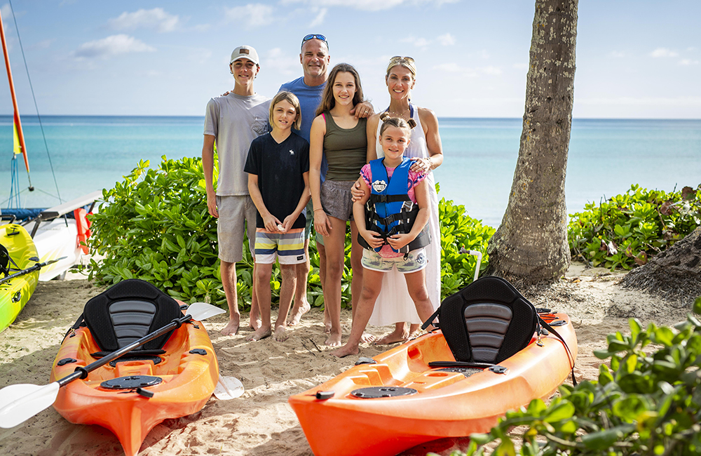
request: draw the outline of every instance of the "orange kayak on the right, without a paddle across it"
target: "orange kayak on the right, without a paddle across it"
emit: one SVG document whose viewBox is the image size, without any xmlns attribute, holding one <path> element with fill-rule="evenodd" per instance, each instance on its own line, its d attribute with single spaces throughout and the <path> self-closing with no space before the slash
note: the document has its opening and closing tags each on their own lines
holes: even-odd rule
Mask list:
<svg viewBox="0 0 701 456">
<path fill-rule="evenodd" d="M 437 438 L 487 432 L 508 410 L 550 396 L 571 372 L 577 340 L 569 317 L 550 314 L 545 321 L 555 323 L 569 351 L 552 333 L 540 342 L 531 333 L 525 348 L 497 359 L 498 368 L 460 366 L 436 330 L 360 358 L 289 402 L 316 456 L 391 456 Z M 443 315 L 441 324 L 447 326 Z"/>
</svg>

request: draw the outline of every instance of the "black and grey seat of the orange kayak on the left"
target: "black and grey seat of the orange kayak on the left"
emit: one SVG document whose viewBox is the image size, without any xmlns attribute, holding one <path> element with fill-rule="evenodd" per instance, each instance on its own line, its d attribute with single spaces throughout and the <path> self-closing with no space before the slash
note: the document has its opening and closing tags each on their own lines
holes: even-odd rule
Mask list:
<svg viewBox="0 0 701 456">
<path fill-rule="evenodd" d="M 180 317 L 182 311 L 176 300 L 140 279 L 116 283 L 90 299 L 83 309 L 85 324 L 101 350 L 93 354 L 98 357 L 121 349 Z M 172 331 L 130 353 L 134 356 L 163 354 L 163 345 L 171 334 Z"/>
</svg>

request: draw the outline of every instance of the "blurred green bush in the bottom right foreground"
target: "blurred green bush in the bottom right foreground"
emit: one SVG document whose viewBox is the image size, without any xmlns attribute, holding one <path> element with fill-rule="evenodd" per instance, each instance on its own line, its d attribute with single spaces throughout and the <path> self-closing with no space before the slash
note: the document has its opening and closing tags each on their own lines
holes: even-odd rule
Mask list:
<svg viewBox="0 0 701 456">
<path fill-rule="evenodd" d="M 693 311 L 701 313 L 701 297 Z M 635 318 L 629 326 L 630 335 L 608 335 L 608 349 L 594 352 L 611 358 L 598 381 L 562 386 L 550 405 L 536 399 L 507 413 L 489 434 L 470 436 L 467 455 L 483 455 L 478 445 L 493 441 L 494 455 L 516 455 L 507 435 L 514 426 L 528 427 L 524 456 L 700 454 L 701 322 L 690 314 L 674 329 L 643 329 Z"/>
</svg>

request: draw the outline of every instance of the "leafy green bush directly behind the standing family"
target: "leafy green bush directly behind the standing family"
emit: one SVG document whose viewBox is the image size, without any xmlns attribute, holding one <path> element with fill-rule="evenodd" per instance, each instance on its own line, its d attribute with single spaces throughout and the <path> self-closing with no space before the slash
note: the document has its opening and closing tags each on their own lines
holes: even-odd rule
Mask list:
<svg viewBox="0 0 701 456">
<path fill-rule="evenodd" d="M 215 159 L 216 163 L 216 159 Z M 217 168 L 215 167 L 215 180 Z M 463 206 L 440 201 L 442 297 L 472 281 L 475 257 L 461 248 L 486 253 L 486 241 L 494 229 L 465 214 Z M 207 212 L 202 161 L 198 158 L 168 160 L 157 169 L 139 162 L 123 182 L 102 191 L 100 210 L 90 216 L 93 236 L 88 245 L 103 259 L 90 264 L 90 279 L 112 284 L 138 278 L 167 290 L 186 302 L 205 301 L 226 308 L 217 258 L 217 222 Z M 346 264 L 341 285 L 341 302 L 351 304 L 351 234 L 346 234 Z M 236 264 L 239 305 L 250 307 L 253 260 L 248 241 L 243 260 Z M 311 271 L 308 301 L 315 307 L 324 303 L 319 279 L 319 255 L 312 237 L 309 243 Z M 486 257 L 482 268 L 486 268 Z M 279 299 L 280 271 L 273 267 L 273 302 Z"/>
</svg>

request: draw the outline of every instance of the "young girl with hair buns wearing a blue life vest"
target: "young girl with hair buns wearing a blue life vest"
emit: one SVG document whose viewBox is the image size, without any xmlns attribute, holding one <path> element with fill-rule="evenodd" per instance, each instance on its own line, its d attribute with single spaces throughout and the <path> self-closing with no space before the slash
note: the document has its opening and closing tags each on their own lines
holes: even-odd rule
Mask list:
<svg viewBox="0 0 701 456">
<path fill-rule="evenodd" d="M 433 314 L 426 290 L 428 263 L 423 248 L 430 243 L 426 174 L 411 171 L 412 161 L 404 158 L 411 128 L 416 123 L 414 119 L 407 123 L 388 115 L 381 120 L 380 145 L 384 157 L 363 166 L 360 176 L 365 196 L 353 203 L 358 241 L 365 247 L 361 261 L 364 271 L 351 336 L 343 347 L 332 351 L 339 357 L 358 354 L 358 344 L 380 293 L 382 276 L 395 267 L 407 280 L 409 296 L 421 320 L 426 321 Z"/>
</svg>

